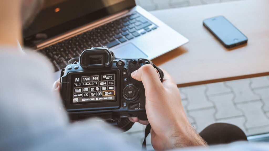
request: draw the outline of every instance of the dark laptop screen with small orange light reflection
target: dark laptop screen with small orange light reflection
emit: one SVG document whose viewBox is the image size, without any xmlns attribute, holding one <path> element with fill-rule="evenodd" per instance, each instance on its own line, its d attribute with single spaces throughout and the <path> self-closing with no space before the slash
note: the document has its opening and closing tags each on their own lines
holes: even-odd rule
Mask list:
<svg viewBox="0 0 269 151">
<path fill-rule="evenodd" d="M 23 31 L 24 45 L 33 47 L 35 43 L 134 6 L 134 0 L 45 0 L 33 22 Z M 46 38 L 37 39 L 37 34 Z"/>
</svg>

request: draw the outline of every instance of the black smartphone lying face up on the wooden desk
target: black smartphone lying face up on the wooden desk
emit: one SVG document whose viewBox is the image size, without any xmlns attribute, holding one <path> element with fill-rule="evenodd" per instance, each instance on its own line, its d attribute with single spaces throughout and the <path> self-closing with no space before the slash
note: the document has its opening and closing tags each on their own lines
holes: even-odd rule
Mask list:
<svg viewBox="0 0 269 151">
<path fill-rule="evenodd" d="M 247 37 L 223 16 L 203 21 L 203 25 L 226 47 L 232 48 L 247 43 Z"/>
</svg>

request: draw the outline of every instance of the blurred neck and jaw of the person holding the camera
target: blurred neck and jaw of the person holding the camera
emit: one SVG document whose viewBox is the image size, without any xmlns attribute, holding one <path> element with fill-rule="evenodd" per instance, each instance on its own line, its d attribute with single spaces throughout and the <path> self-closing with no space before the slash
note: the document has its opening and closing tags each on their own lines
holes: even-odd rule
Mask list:
<svg viewBox="0 0 269 151">
<path fill-rule="evenodd" d="M 16 45 L 44 0 L 0 0 L 0 44 Z"/>
</svg>

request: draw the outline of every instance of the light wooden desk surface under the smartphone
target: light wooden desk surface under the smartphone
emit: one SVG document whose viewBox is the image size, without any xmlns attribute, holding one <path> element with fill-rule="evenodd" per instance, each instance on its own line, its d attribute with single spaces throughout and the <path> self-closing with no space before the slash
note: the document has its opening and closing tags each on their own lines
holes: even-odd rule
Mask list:
<svg viewBox="0 0 269 151">
<path fill-rule="evenodd" d="M 190 42 L 154 60 L 179 87 L 269 75 L 269 1 L 242 0 L 151 12 Z M 226 49 L 203 27 L 223 15 L 248 37 Z"/>
</svg>

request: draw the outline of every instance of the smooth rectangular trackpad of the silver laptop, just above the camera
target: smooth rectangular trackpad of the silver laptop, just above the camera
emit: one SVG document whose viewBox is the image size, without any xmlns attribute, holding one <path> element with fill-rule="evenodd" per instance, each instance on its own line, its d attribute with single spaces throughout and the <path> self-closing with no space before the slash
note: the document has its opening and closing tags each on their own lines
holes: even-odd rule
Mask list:
<svg viewBox="0 0 269 151">
<path fill-rule="evenodd" d="M 112 49 L 116 58 L 147 58 L 148 56 L 137 48 L 133 43 Z"/>
</svg>

